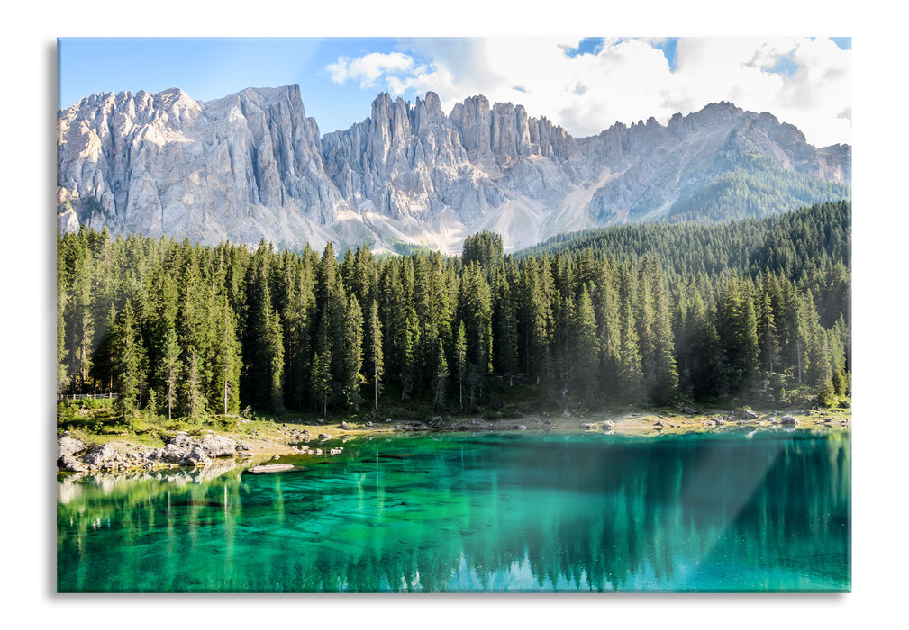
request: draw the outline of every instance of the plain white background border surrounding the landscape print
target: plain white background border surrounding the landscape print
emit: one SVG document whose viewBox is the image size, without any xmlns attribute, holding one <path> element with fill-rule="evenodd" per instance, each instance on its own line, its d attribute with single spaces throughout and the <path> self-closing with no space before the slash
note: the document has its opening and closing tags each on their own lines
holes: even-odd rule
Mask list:
<svg viewBox="0 0 909 630">
<path fill-rule="evenodd" d="M 905 160 L 902 11 L 762 3 L 44 2 L 7 6 L 0 97 L 4 619 L 7 627 L 844 628 L 905 620 Z M 23 11 L 25 12 L 23 14 Z M 55 594 L 55 37 L 852 36 L 853 590 L 785 596 L 58 596 Z M 642 114 L 644 115 L 644 114 Z M 872 365 L 874 363 L 874 365 Z M 12 457 L 10 457 L 12 455 Z M 794 482 L 798 482 L 794 480 Z M 9 624 L 9 625 L 7 625 Z"/>
</svg>

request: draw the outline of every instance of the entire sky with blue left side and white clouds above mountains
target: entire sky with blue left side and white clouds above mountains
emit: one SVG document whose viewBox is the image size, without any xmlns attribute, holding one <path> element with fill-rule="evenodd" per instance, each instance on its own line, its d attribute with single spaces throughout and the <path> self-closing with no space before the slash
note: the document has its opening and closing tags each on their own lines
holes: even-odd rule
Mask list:
<svg viewBox="0 0 909 630">
<path fill-rule="evenodd" d="M 731 101 L 815 146 L 852 143 L 849 38 L 64 38 L 58 55 L 60 107 L 96 92 L 180 87 L 205 101 L 300 84 L 327 133 L 362 121 L 380 92 L 433 91 L 446 112 L 484 94 L 580 137 Z"/>
</svg>

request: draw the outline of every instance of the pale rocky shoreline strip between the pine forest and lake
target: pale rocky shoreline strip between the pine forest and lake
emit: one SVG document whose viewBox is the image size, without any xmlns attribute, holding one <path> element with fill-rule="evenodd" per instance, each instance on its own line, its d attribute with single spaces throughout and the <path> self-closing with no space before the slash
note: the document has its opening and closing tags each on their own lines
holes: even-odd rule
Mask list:
<svg viewBox="0 0 909 630">
<path fill-rule="evenodd" d="M 320 418 L 321 420 L 321 418 Z M 244 422 L 241 420 L 241 422 Z M 69 432 L 57 440 L 56 465 L 60 472 L 122 472 L 130 469 L 160 470 L 165 468 L 213 467 L 233 460 L 250 466 L 286 455 L 339 455 L 344 447 L 337 442 L 354 438 L 371 438 L 375 434 L 402 434 L 417 431 L 604 431 L 640 436 L 658 436 L 681 432 L 720 431 L 725 428 L 844 429 L 852 425 L 849 409 L 807 409 L 789 413 L 740 412 L 707 413 L 681 406 L 672 413 L 627 413 L 620 416 L 585 415 L 564 411 L 523 416 L 518 420 L 504 418 L 442 418 L 393 423 L 366 420 L 361 424 L 343 421 L 328 429 L 325 422 L 316 425 L 272 422 L 262 430 L 253 429 L 239 435 L 217 434 L 207 430 L 203 436 L 186 431 L 166 438 L 162 448 L 143 448 L 128 440 L 112 440 L 89 445 Z M 335 433 L 329 433 L 328 431 Z M 272 465 L 276 466 L 276 465 Z M 272 468 L 271 470 L 275 470 Z M 267 471 L 265 471 L 267 472 Z"/>
</svg>

